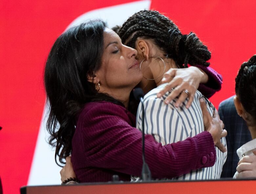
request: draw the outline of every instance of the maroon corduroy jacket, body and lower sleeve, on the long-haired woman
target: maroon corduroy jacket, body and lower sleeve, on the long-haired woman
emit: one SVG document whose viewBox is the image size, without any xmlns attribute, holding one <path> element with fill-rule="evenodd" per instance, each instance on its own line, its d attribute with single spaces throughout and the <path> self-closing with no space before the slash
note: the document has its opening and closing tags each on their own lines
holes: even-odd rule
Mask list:
<svg viewBox="0 0 256 194">
<path fill-rule="evenodd" d="M 78 180 L 105 182 L 117 174 L 120 180 L 130 181 L 130 175 L 141 175 L 141 132 L 133 127 L 135 121 L 133 114 L 117 104 L 85 104 L 72 139 L 72 163 Z M 146 135 L 145 158 L 153 178 L 171 178 L 213 166 L 216 152 L 209 132 L 165 146 Z"/>
</svg>

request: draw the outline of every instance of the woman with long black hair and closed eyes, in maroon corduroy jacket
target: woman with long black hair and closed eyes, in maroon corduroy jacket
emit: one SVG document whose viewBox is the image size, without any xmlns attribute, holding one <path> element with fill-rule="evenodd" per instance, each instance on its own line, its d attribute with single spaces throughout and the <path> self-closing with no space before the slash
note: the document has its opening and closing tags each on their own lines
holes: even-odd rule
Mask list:
<svg viewBox="0 0 256 194">
<path fill-rule="evenodd" d="M 51 49 L 44 76 L 50 143 L 61 163 L 72 150 L 81 182 L 110 181 L 114 174 L 129 181 L 141 173 L 141 132 L 128 110 L 130 93 L 142 79 L 136 56 L 102 21 L 68 29 Z M 152 176 L 174 177 L 212 166 L 214 145 L 225 134 L 216 112 L 208 124 L 207 131 L 165 146 L 146 135 Z M 202 162 L 208 155 L 213 157 Z"/>
</svg>

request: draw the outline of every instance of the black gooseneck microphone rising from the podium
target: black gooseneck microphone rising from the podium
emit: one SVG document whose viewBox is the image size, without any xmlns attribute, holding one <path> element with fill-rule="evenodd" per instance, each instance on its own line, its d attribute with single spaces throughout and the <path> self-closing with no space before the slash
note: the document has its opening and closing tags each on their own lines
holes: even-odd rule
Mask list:
<svg viewBox="0 0 256 194">
<path fill-rule="evenodd" d="M 148 164 L 146 163 L 146 160 L 145 160 L 145 132 L 144 132 L 144 104 L 143 104 L 144 93 L 141 88 L 134 88 L 133 95 L 137 101 L 141 102 L 141 106 L 142 106 L 142 161 L 143 161 L 143 165 L 142 165 L 141 176 L 142 176 L 142 181 L 150 181 L 151 180 L 151 172 L 150 172 Z"/>
</svg>

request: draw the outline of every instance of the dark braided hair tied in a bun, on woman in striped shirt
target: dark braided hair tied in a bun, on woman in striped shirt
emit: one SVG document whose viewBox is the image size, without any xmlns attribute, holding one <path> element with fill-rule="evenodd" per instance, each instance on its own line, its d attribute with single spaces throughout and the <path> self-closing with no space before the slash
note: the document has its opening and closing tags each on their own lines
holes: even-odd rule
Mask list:
<svg viewBox="0 0 256 194">
<path fill-rule="evenodd" d="M 179 28 L 158 11 L 142 10 L 132 15 L 118 30 L 122 42 L 135 48 L 138 37 L 150 38 L 179 67 L 209 66 L 211 53 L 195 33 L 182 35 Z"/>
</svg>

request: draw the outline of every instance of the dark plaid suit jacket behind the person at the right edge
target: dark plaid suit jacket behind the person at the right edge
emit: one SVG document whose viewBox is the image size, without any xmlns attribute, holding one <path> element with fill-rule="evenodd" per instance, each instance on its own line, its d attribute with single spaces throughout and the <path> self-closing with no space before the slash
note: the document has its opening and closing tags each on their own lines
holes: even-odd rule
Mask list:
<svg viewBox="0 0 256 194">
<path fill-rule="evenodd" d="M 239 162 L 236 150 L 246 142 L 252 140 L 245 120 L 240 117 L 233 101 L 234 96 L 222 101 L 219 106 L 219 115 L 227 130 L 227 159 L 223 166 L 221 178 L 233 177 Z"/>
</svg>

